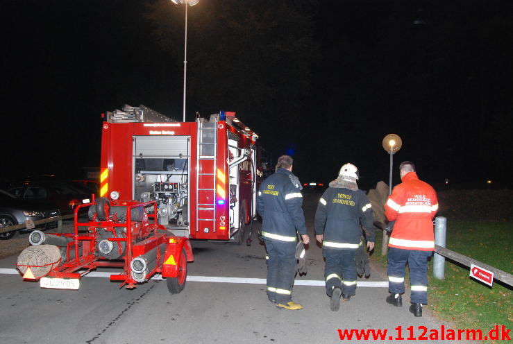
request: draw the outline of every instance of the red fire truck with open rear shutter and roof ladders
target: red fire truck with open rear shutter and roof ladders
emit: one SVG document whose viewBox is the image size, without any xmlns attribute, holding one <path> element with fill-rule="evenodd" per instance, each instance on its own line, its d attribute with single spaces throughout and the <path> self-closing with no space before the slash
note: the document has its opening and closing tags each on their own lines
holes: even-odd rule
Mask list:
<svg viewBox="0 0 513 344">
<path fill-rule="evenodd" d="M 235 112 L 184 123 L 125 105 L 103 122 L 100 196 L 155 201 L 176 236 L 241 243 L 262 177 L 257 138 Z"/>
</svg>

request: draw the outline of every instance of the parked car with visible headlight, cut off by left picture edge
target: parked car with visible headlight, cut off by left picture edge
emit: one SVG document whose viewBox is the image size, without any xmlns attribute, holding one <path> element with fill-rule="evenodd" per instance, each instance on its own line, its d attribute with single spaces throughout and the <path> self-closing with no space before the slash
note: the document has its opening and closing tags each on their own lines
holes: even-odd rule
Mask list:
<svg viewBox="0 0 513 344">
<path fill-rule="evenodd" d="M 19 225 L 27 220 L 37 221 L 44 218 L 60 216 L 60 211 L 56 205 L 43 205 L 34 203 L 31 200 L 23 200 L 0 189 L 0 229 L 12 225 Z M 58 221 L 36 225 L 35 228 L 51 230 L 58 227 Z M 28 230 L 14 230 L 12 232 L 0 233 L 0 240 L 11 239 L 19 232 Z"/>
</svg>

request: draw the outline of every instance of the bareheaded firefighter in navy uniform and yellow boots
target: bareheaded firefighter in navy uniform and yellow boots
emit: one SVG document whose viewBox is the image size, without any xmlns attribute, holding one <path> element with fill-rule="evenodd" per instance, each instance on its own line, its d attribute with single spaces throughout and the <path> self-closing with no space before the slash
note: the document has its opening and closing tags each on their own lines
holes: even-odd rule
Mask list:
<svg viewBox="0 0 513 344">
<path fill-rule="evenodd" d="M 292 301 L 296 275 L 297 232 L 303 243 L 310 239 L 303 215 L 301 183 L 292 174 L 292 157 L 278 158 L 276 173 L 262 182 L 258 191 L 257 209 L 262 216 L 261 235 L 267 250 L 267 297 L 276 307 L 301 309 Z"/>
</svg>

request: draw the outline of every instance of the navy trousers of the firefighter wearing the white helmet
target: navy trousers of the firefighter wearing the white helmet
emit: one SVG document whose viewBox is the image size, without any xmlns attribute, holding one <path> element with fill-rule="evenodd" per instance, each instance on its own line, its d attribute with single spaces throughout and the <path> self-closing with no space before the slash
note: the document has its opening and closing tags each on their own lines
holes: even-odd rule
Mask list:
<svg viewBox="0 0 513 344">
<path fill-rule="evenodd" d="M 339 287 L 344 295 L 356 293 L 356 250 L 330 250 L 324 248 L 326 266 L 326 294 L 331 297 L 333 288 Z"/>
</svg>

